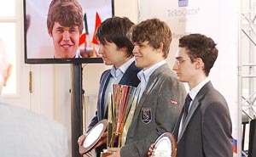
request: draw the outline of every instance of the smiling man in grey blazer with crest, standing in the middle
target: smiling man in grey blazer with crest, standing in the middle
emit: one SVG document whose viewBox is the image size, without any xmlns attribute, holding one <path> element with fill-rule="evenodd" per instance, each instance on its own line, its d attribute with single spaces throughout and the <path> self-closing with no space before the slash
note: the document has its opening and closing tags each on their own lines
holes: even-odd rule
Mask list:
<svg viewBox="0 0 256 157">
<path fill-rule="evenodd" d="M 127 133 L 125 146 L 108 149 L 112 156 L 148 156 L 148 147 L 163 132 L 172 132 L 183 107 L 183 83 L 166 64 L 172 41 L 172 32 L 158 19 L 144 20 L 132 27 L 135 64 L 143 70 L 138 73 L 137 108 Z"/>
</svg>

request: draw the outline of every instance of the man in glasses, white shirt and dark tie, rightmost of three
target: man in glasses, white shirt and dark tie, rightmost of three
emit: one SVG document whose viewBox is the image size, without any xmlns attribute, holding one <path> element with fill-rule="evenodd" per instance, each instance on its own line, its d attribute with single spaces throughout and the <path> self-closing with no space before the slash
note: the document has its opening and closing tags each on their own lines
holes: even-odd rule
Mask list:
<svg viewBox="0 0 256 157">
<path fill-rule="evenodd" d="M 228 104 L 208 78 L 218 56 L 215 46 L 212 38 L 201 34 L 190 34 L 179 39 L 173 70 L 179 81 L 189 83 L 191 101 L 186 117 L 184 105 L 174 132 L 177 157 L 233 156 Z"/>
</svg>

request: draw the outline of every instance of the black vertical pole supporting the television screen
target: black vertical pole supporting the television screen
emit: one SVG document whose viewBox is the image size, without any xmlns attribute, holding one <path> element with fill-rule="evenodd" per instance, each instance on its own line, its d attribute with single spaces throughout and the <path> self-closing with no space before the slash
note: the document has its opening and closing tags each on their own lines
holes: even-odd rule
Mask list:
<svg viewBox="0 0 256 157">
<path fill-rule="evenodd" d="M 72 86 L 71 86 L 71 132 L 72 132 L 72 157 L 82 157 L 79 154 L 78 139 L 83 134 L 83 106 L 82 94 L 82 64 L 71 64 Z"/>
</svg>

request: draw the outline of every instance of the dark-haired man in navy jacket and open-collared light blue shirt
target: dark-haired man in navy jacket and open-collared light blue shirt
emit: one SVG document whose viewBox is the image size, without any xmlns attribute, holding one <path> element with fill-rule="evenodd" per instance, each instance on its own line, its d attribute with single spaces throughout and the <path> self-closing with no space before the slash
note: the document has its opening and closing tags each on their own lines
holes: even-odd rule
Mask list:
<svg viewBox="0 0 256 157">
<path fill-rule="evenodd" d="M 100 42 L 99 53 L 102 54 L 104 64 L 113 65 L 113 67 L 111 70 L 106 70 L 102 73 L 96 116 L 90 121 L 87 132 L 98 121 L 108 119 L 107 96 L 111 92 L 112 84 L 137 87 L 140 82 L 137 78 L 137 73 L 141 69 L 135 65 L 135 59 L 132 54 L 133 44 L 126 36 L 132 25 L 134 24 L 127 18 L 113 17 L 104 20 L 97 28 L 96 38 Z M 80 145 L 82 145 L 85 137 L 86 135 L 79 137 Z M 96 155 L 98 157 L 102 149 L 106 149 L 105 143 L 107 143 L 107 132 L 103 134 L 102 140 L 96 144 Z"/>
</svg>

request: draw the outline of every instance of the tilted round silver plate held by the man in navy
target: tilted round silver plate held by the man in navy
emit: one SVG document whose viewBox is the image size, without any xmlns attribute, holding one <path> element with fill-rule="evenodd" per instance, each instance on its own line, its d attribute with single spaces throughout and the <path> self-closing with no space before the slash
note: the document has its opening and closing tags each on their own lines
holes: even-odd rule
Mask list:
<svg viewBox="0 0 256 157">
<path fill-rule="evenodd" d="M 84 139 L 84 143 L 79 147 L 80 154 L 86 154 L 92 149 L 96 143 L 101 139 L 102 134 L 106 131 L 108 126 L 108 120 L 99 121 L 90 132 L 88 132 L 87 137 Z"/>
</svg>

